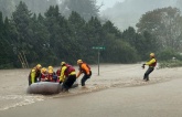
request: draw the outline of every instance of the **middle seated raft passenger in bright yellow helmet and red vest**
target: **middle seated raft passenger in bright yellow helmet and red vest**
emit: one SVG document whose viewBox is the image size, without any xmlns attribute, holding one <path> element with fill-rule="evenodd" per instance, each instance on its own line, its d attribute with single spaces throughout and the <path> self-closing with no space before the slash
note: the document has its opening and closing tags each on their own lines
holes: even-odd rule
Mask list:
<svg viewBox="0 0 182 117">
<path fill-rule="evenodd" d="M 53 70 L 53 66 L 49 66 L 49 74 L 47 74 L 49 82 L 56 82 L 57 76 Z"/>
</svg>

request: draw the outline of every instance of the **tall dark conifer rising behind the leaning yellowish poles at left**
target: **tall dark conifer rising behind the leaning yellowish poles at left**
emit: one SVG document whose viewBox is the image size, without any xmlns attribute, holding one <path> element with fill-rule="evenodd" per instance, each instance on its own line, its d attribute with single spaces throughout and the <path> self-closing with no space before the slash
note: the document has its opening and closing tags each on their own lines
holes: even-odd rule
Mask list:
<svg viewBox="0 0 182 117">
<path fill-rule="evenodd" d="M 20 62 L 23 67 L 25 62 L 21 61 L 21 56 L 25 60 L 25 55 L 29 54 L 29 51 L 32 46 L 33 35 L 32 29 L 30 28 L 32 13 L 29 11 L 28 6 L 24 2 L 20 2 L 15 8 L 15 11 L 12 13 L 12 26 L 15 29 L 17 36 L 12 39 L 12 45 L 19 56 Z M 30 59 L 34 57 L 32 55 L 28 55 Z M 33 59 L 32 59 L 33 60 Z"/>
</svg>

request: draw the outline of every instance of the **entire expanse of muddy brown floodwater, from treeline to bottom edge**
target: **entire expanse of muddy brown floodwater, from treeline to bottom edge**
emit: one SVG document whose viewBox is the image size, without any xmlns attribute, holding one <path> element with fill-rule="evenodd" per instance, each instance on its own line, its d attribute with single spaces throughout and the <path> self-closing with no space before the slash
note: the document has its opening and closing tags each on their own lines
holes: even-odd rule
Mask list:
<svg viewBox="0 0 182 117">
<path fill-rule="evenodd" d="M 86 84 L 107 88 L 86 93 L 75 88 L 56 98 L 25 94 L 30 70 L 0 71 L 0 77 L 8 77 L 0 78 L 0 117 L 182 116 L 182 67 L 156 70 L 147 84 L 142 82 L 146 70 L 141 64 L 100 65 L 99 76 L 97 66 L 92 70 Z M 79 94 L 69 95 L 74 93 Z"/>
</svg>

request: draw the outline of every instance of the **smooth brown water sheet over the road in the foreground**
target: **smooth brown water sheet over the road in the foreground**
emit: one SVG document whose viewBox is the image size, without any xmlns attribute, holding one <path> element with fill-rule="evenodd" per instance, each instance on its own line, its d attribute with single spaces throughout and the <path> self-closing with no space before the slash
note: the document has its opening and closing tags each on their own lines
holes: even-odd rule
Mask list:
<svg viewBox="0 0 182 117">
<path fill-rule="evenodd" d="M 182 78 L 113 87 L 0 111 L 0 117 L 181 117 Z"/>
</svg>

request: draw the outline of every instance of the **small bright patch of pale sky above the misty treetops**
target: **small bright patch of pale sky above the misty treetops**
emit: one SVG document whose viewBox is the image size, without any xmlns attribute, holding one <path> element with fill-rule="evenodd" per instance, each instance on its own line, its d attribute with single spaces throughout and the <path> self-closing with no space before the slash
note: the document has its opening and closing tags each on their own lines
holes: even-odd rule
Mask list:
<svg viewBox="0 0 182 117">
<path fill-rule="evenodd" d="M 114 7 L 117 2 L 124 2 L 125 0 L 97 0 L 97 4 L 100 6 L 104 4 L 100 10 L 105 10 L 107 8 Z"/>
</svg>

